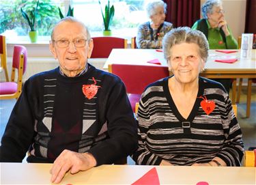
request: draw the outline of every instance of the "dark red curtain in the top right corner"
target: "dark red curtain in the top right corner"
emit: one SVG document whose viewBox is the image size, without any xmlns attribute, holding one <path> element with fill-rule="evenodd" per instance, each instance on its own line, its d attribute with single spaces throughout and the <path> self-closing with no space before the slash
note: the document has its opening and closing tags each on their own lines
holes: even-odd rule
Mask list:
<svg viewBox="0 0 256 185">
<path fill-rule="evenodd" d="M 256 1 L 246 1 L 246 16 L 244 33 L 256 33 Z"/>
</svg>

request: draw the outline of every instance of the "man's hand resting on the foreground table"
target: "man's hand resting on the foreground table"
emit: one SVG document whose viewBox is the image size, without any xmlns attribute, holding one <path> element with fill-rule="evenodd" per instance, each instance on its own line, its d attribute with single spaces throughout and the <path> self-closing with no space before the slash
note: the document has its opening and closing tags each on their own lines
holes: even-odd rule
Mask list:
<svg viewBox="0 0 256 185">
<path fill-rule="evenodd" d="M 58 184 L 61 182 L 67 171 L 77 173 L 96 166 L 96 159 L 89 153 L 79 154 L 70 150 L 63 150 L 53 163 L 50 171 L 51 182 Z"/>
</svg>

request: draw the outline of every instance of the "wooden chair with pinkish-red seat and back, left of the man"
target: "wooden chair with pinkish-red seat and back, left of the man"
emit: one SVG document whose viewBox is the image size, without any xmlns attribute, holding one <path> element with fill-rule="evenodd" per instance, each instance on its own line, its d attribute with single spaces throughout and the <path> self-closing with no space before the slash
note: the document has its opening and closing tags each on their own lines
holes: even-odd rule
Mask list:
<svg viewBox="0 0 256 185">
<path fill-rule="evenodd" d="M 23 74 L 26 67 L 27 49 L 25 46 L 14 46 L 11 81 L 0 83 L 0 100 L 18 98 L 20 96 L 23 85 Z M 17 81 L 15 81 L 15 70 L 18 70 Z"/>
</svg>

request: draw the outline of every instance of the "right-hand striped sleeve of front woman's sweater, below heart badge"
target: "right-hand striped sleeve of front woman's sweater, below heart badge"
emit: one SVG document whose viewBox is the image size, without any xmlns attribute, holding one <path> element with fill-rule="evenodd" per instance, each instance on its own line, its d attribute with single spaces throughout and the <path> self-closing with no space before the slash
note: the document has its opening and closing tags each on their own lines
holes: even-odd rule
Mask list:
<svg viewBox="0 0 256 185">
<path fill-rule="evenodd" d="M 227 96 L 225 104 L 227 105 L 225 109 L 221 109 L 225 142 L 221 152 L 216 156 L 224 160 L 227 166 L 241 166 L 242 157 L 244 155 L 242 132 L 231 106 L 229 96 Z"/>
</svg>

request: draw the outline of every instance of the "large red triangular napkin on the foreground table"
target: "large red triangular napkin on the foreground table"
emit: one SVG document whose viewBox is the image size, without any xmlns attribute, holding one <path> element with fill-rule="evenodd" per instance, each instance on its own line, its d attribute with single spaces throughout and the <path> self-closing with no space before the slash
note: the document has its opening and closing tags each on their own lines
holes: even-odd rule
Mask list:
<svg viewBox="0 0 256 185">
<path fill-rule="evenodd" d="M 132 185 L 160 185 L 156 167 L 152 168 L 150 171 L 147 171 L 145 175 L 139 178 L 139 180 L 132 183 Z"/>
</svg>

